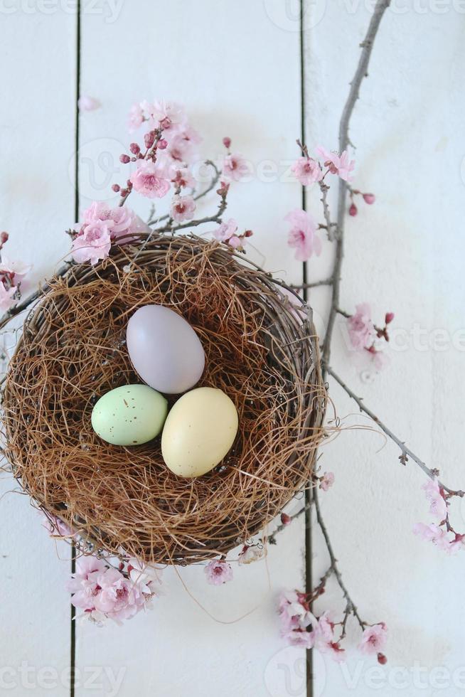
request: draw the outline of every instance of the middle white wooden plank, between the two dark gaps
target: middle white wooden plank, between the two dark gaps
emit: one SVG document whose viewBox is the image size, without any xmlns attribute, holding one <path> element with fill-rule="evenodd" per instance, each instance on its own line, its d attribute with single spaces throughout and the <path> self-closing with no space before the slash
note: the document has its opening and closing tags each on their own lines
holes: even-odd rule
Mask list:
<svg viewBox="0 0 465 697">
<path fill-rule="evenodd" d="M 301 191 L 297 183 L 279 179 L 295 158 L 300 134 L 299 33 L 280 26 L 276 14 L 281 16 L 279 0 L 126 3 L 113 23 L 84 14 L 82 91 L 100 99 L 102 109 L 82 115 L 81 149 L 94 163 L 99 153 L 109 153 L 109 169 L 119 169 L 132 102 L 154 97 L 183 102 L 205 137 L 205 155 L 220 156 L 221 139 L 228 135 L 234 149 L 252 161 L 258 174 L 233 187 L 229 214 L 254 230 L 252 243 L 260 252 L 252 250 L 252 257 L 296 282 L 301 265 L 287 248 L 282 219 L 299 207 Z M 269 163 L 276 175 L 267 173 Z M 102 168 L 98 174 L 102 182 Z M 119 179 L 114 173 L 112 181 Z M 82 168 L 82 206 L 102 196 L 98 181 L 92 183 Z M 133 197 L 131 205 L 144 211 L 143 201 Z M 166 597 L 156 601 L 151 614 L 135 617 L 123 628 L 78 625 L 77 667 L 105 666 L 115 680 L 122 669 L 119 697 L 282 697 L 287 663 L 304 661 L 304 654 L 294 650 L 289 655 L 279 638 L 277 592 L 302 587 L 303 554 L 303 524 L 295 523 L 279 547 L 270 550 L 267 566 L 238 568 L 229 587 L 206 585 L 199 566 L 179 570 L 189 592 L 220 620 L 257 607 L 250 617 L 226 625 L 210 619 L 176 571 L 168 570 Z M 304 689 L 304 679 L 302 685 Z M 107 693 L 104 688 L 95 692 Z M 77 688 L 76 694 L 84 690 Z"/>
</svg>

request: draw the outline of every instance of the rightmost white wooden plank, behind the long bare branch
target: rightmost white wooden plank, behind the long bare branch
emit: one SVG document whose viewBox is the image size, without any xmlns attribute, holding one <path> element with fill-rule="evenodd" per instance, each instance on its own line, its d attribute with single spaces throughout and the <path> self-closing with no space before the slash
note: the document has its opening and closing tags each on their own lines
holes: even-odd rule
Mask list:
<svg viewBox="0 0 465 697">
<path fill-rule="evenodd" d="M 365 4 L 351 13 L 347 7 L 326 4 L 324 17 L 306 34 L 310 149 L 319 143 L 337 147 L 338 117 L 369 21 Z M 465 243 L 458 234 L 457 206 L 464 196 L 462 24 L 452 5 L 442 14 L 429 5 L 419 15 L 407 4 L 402 14 L 393 7 L 383 18 L 351 128 L 357 147 L 354 186 L 373 191 L 377 201 L 370 207 L 360 203 L 358 216 L 347 223 L 342 307 L 353 312 L 356 303 L 368 301 L 377 321 L 386 310 L 395 312 L 391 363 L 373 383 L 360 380 L 362 368 L 346 350 L 341 329 L 335 331 L 332 359 L 365 403 L 457 488 L 464 483 L 465 440 L 465 357 L 459 340 Z M 311 206 L 319 211 L 316 197 Z M 326 244 L 311 280 L 328 275 L 330 258 Z M 311 299 L 324 315 L 327 291 L 317 289 Z M 338 414 L 349 415 L 346 425 L 369 425 L 354 416 L 356 405 L 333 381 L 331 396 Z M 375 689 L 391 695 L 402 688 L 412 697 L 443 690 L 458 696 L 464 689 L 459 653 L 464 611 L 456 602 L 456 579 L 464 560 L 412 534 L 415 522 L 432 522 L 420 489 L 424 475 L 412 463 L 402 469 L 397 449 L 366 430 L 342 433 L 323 454 L 322 467 L 335 472 L 336 484 L 321 494 L 321 505 L 341 570 L 361 616 L 384 620 L 390 642 L 389 662 L 378 666 L 375 657 L 356 651 L 353 627 L 346 666 L 318 659 L 316 695 L 368 697 Z M 459 531 L 465 526 L 463 510 L 456 502 L 451 506 Z M 327 565 L 317 532 L 315 546 L 317 580 Z M 328 607 L 343 610 L 333 586 L 317 605 Z"/>
</svg>

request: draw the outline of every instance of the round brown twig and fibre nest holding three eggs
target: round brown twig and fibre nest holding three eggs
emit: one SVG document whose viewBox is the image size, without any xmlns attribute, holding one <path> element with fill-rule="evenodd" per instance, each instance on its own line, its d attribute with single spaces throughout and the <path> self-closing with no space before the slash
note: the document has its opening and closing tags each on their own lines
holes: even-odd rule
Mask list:
<svg viewBox="0 0 465 697">
<path fill-rule="evenodd" d="M 232 449 L 197 479 L 167 469 L 160 438 L 122 447 L 92 430 L 98 398 L 140 383 L 125 337 L 145 304 L 190 322 L 205 349 L 198 386 L 237 408 Z M 189 564 L 262 531 L 308 485 L 326 390 L 311 314 L 282 282 L 216 242 L 160 235 L 49 282 L 24 322 L 3 408 L 14 476 L 78 547 Z"/>
</svg>

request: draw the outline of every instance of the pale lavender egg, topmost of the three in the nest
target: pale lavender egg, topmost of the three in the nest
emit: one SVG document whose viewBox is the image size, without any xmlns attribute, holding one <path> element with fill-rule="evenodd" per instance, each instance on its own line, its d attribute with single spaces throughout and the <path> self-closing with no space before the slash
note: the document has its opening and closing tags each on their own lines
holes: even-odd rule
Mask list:
<svg viewBox="0 0 465 697">
<path fill-rule="evenodd" d="M 135 371 L 154 390 L 178 395 L 200 380 L 205 367 L 201 341 L 169 307 L 139 307 L 129 319 L 126 337 Z"/>
</svg>

